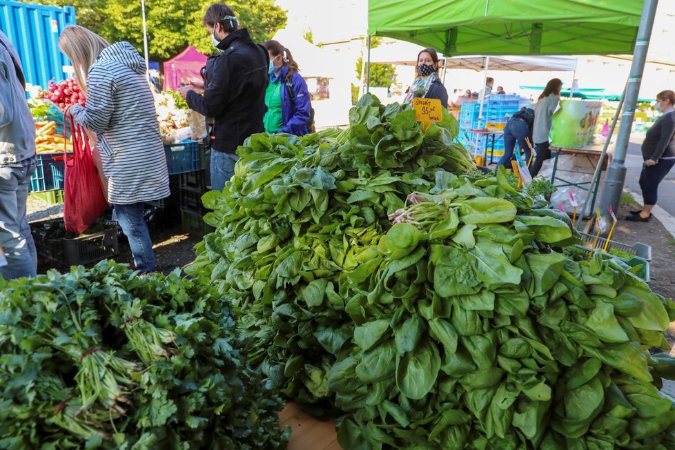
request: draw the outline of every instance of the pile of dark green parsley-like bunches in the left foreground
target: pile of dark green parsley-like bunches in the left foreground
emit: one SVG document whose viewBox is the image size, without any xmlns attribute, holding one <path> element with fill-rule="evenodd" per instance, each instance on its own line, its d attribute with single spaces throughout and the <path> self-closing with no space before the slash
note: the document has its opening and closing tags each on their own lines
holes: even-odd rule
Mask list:
<svg viewBox="0 0 675 450">
<path fill-rule="evenodd" d="M 100 262 L 0 280 L 0 448 L 277 449 L 281 398 L 220 295 Z"/>
</svg>

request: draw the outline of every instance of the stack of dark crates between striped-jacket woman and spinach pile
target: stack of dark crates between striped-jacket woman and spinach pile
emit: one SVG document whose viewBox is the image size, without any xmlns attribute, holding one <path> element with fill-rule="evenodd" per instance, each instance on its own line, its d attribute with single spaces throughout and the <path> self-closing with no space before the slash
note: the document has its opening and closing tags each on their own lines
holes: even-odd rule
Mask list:
<svg viewBox="0 0 675 450">
<path fill-rule="evenodd" d="M 199 154 L 204 154 L 204 146 L 199 146 Z M 180 175 L 180 215 L 184 233 L 204 236 L 213 231 L 213 227 L 204 222 L 204 215 L 208 212 L 202 204 L 202 195 L 206 193 L 205 158 L 199 158 L 199 170 L 182 173 Z"/>
</svg>

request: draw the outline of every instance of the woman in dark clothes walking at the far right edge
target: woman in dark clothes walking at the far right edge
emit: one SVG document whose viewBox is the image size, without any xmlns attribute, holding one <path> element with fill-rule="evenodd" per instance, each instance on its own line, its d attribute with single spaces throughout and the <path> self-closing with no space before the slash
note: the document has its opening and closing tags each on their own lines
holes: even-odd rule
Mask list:
<svg viewBox="0 0 675 450">
<path fill-rule="evenodd" d="M 663 90 L 656 95 L 656 110 L 663 115 L 649 128 L 642 143 L 642 156 L 645 159 L 640 173 L 640 188 L 645 206 L 640 210 L 629 211 L 626 220 L 630 222 L 649 222 L 652 208 L 656 204 L 658 185 L 675 165 L 675 92 Z"/>
</svg>

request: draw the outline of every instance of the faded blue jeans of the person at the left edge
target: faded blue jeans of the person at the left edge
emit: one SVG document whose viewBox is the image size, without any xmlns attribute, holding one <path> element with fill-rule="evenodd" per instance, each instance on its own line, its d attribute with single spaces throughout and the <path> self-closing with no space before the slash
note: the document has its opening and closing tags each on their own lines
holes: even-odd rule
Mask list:
<svg viewBox="0 0 675 450">
<path fill-rule="evenodd" d="M 32 277 L 37 273 L 37 252 L 26 218 L 30 176 L 37 158 L 0 166 L 0 245 L 7 266 L 0 267 L 6 280 Z"/>
</svg>

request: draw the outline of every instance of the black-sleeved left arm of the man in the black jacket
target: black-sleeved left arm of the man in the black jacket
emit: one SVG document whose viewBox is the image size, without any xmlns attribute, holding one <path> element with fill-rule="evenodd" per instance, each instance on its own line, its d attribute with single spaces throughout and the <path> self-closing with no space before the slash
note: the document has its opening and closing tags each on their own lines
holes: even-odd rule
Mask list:
<svg viewBox="0 0 675 450">
<path fill-rule="evenodd" d="M 231 99 L 242 91 L 244 74 L 234 76 L 228 55 L 221 55 L 208 70 L 208 86 L 204 95 L 190 90 L 186 97 L 188 108 L 206 117 L 219 117 L 228 108 Z"/>
</svg>

